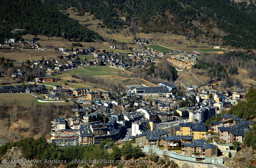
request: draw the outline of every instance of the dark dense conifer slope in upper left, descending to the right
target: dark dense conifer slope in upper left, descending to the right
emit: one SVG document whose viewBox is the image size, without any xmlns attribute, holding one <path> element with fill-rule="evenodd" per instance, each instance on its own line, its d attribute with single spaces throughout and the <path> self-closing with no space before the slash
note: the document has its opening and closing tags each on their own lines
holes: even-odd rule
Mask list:
<svg viewBox="0 0 256 168">
<path fill-rule="evenodd" d="M 0 41 L 5 38 L 21 39 L 20 33 L 12 34 L 14 28 L 25 29 L 24 33 L 43 34 L 76 38 L 79 41 L 92 42 L 102 37 L 77 21 L 58 11 L 51 2 L 41 0 L 9 0 L 1 2 Z"/>
</svg>

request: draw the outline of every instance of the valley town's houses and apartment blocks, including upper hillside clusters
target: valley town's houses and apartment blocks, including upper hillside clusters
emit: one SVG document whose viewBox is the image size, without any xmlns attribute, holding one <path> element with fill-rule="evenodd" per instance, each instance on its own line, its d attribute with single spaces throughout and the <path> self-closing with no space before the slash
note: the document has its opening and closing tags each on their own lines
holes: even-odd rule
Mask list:
<svg viewBox="0 0 256 168">
<path fill-rule="evenodd" d="M 180 89 L 167 82 L 161 82 L 156 87 L 134 85 L 127 91 L 117 93 L 91 91 L 88 88 L 69 89 L 57 84 L 51 90 L 45 87 L 47 82 L 55 82 L 53 77 L 45 76 L 47 73 L 49 75 L 95 65 L 121 69 L 130 69 L 132 66 L 146 68 L 148 63 L 157 62 L 156 57 L 164 54 L 144 47 L 152 41 L 144 38 L 136 38 L 135 41 L 142 48 L 132 48 L 133 53 L 114 53 L 114 45 L 108 51 L 91 47 L 74 48 L 72 52 L 60 48 L 59 52 L 66 55 L 54 58 L 53 67 L 47 66 L 50 60 L 30 62 L 32 68 L 42 70 L 34 78 L 33 86 L 2 86 L 0 93 L 39 92 L 45 95 L 46 100 L 53 102 L 72 98 L 79 103 L 79 108 L 73 109 L 73 117 L 55 118 L 52 121 L 51 139 L 59 147 L 98 144 L 107 138 L 119 141 L 125 136 L 124 141 L 135 138 L 135 143 L 141 147 L 180 148 L 185 155 L 211 158 L 220 156 L 220 151 L 227 156 L 227 150 L 232 149 L 234 141 L 244 141 L 246 130 L 253 126 L 252 121 L 226 114 L 220 117 L 220 122 L 210 122 L 210 126 L 204 124 L 207 119 L 216 117 L 223 109 L 230 108 L 244 97 L 250 87 L 243 87 L 239 83 L 233 86 L 233 90 L 223 85 L 213 87 L 208 84 L 200 88 L 187 86 L 184 92 L 178 92 Z M 6 39 L 6 44 L 10 42 L 15 40 Z M 170 50 L 167 54 L 171 64 L 191 68 L 198 53 Z M 85 60 L 80 55 L 93 58 Z M 12 77 L 23 75 L 22 68 L 18 67 Z M 171 134 L 160 129 L 162 124 L 167 128 L 175 126 L 174 132 Z M 128 133 L 127 129 L 130 130 Z M 211 134 L 215 134 L 217 139 Z M 224 149 L 222 143 L 231 145 Z"/>
</svg>

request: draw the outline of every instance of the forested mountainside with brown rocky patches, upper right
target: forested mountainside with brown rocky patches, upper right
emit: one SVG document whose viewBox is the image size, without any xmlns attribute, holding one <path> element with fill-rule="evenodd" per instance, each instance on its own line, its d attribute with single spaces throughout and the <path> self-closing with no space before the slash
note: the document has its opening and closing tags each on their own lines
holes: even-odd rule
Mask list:
<svg viewBox="0 0 256 168">
<path fill-rule="evenodd" d="M 88 11 L 113 29 L 127 25 L 134 33 L 170 31 L 213 45 L 256 47 L 256 15 L 255 12 L 248 12 L 256 8 L 254 4 L 250 4 L 250 8 L 245 10 L 225 0 L 78 0 L 76 2 L 52 1 L 60 10 L 73 6 L 78 11 Z M 138 26 L 144 29 L 138 29 Z"/>
</svg>

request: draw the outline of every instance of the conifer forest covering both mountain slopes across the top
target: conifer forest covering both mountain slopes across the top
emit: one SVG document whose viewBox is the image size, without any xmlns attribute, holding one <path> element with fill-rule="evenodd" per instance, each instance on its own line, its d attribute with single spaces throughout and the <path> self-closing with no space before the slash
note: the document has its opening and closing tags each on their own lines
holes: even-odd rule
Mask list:
<svg viewBox="0 0 256 168">
<path fill-rule="evenodd" d="M 20 33 L 11 33 L 13 28 L 25 29 L 30 34 L 77 38 L 86 42 L 102 40 L 99 34 L 58 11 L 75 7 L 79 15 L 90 12 L 112 29 L 130 27 L 133 33 L 169 31 L 212 45 L 256 47 L 256 6 L 252 3 L 235 4 L 225 0 L 9 0 L 2 5 L 5 6 L 0 14 L 2 42 L 7 37 L 20 37 Z"/>
</svg>

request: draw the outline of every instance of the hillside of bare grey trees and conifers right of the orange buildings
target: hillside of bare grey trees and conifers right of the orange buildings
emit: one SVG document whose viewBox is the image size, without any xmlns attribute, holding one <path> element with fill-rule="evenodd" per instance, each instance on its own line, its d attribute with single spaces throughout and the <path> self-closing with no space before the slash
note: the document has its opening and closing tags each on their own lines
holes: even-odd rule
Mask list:
<svg viewBox="0 0 256 168">
<path fill-rule="evenodd" d="M 253 53 L 249 54 L 240 51 L 225 52 L 223 54 L 206 53 L 201 54 L 201 57 L 203 60 L 199 60 L 192 66 L 192 69 L 205 70 L 208 76 L 207 83 L 222 81 L 227 87 L 233 85 L 236 81 L 231 80 L 230 76 L 237 74 L 238 68 L 245 69 L 249 78 L 256 79 L 256 55 Z"/>
</svg>

